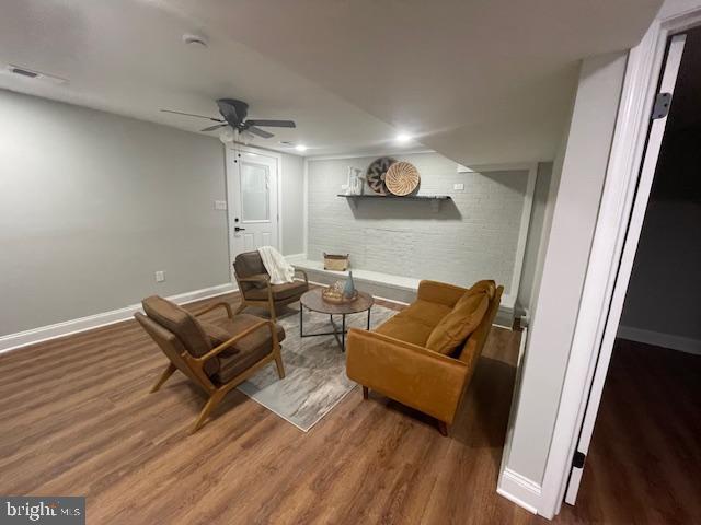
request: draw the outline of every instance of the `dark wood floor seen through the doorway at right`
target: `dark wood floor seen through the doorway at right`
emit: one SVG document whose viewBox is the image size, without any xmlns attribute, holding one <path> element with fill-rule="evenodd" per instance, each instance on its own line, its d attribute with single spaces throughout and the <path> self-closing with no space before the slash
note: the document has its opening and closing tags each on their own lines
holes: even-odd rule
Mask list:
<svg viewBox="0 0 701 525">
<path fill-rule="evenodd" d="M 701 355 L 617 340 L 577 504 L 558 523 L 701 524 Z"/>
</svg>

